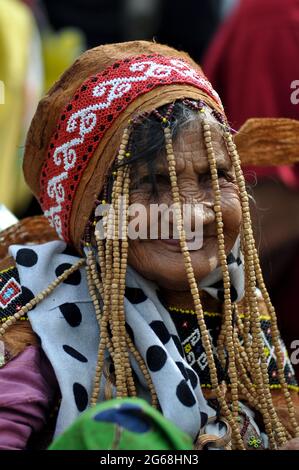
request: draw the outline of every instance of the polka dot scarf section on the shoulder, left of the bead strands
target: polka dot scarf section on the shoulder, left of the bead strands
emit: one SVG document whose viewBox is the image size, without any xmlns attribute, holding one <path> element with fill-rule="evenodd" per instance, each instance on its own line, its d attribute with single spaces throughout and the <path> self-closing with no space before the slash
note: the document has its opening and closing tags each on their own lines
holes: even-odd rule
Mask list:
<svg viewBox="0 0 299 470">
<path fill-rule="evenodd" d="M 13 245 L 24 300 L 29 301 L 78 257 L 66 244 L 54 241 L 29 247 Z M 33 264 L 33 261 L 36 261 Z M 28 318 L 41 339 L 62 394 L 55 434 L 60 434 L 84 411 L 92 390 L 99 332 L 89 296 L 85 269 L 76 271 L 33 310 Z M 88 341 L 86 341 L 88 338 Z"/>
</svg>

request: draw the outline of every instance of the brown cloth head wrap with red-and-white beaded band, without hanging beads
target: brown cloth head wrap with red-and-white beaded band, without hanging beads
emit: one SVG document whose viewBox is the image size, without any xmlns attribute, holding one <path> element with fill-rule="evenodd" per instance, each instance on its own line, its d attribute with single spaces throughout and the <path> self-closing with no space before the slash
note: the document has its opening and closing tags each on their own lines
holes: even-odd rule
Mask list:
<svg viewBox="0 0 299 470">
<path fill-rule="evenodd" d="M 24 172 L 59 236 L 80 239 L 128 120 L 177 99 L 217 93 L 190 57 L 136 41 L 84 53 L 40 102 L 28 134 Z"/>
</svg>

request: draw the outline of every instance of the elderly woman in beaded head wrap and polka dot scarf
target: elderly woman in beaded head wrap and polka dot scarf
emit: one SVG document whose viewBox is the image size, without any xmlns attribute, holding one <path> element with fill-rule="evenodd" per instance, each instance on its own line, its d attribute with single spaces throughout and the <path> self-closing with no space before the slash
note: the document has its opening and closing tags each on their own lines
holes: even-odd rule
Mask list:
<svg viewBox="0 0 299 470">
<path fill-rule="evenodd" d="M 53 448 L 111 448 L 114 425 L 119 448 L 299 436 L 238 153 L 198 65 L 148 42 L 87 51 L 40 102 L 24 171 L 60 239 L 10 246 L 1 269 L 1 448 L 29 445 L 56 392 Z"/>
</svg>

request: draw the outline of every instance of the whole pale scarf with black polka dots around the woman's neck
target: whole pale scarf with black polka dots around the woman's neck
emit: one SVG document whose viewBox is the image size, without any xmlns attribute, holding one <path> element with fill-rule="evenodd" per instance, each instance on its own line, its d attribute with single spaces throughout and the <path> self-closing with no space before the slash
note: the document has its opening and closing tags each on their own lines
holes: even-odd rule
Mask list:
<svg viewBox="0 0 299 470">
<path fill-rule="evenodd" d="M 61 241 L 14 245 L 10 254 L 16 260 L 28 300 L 78 259 Z M 244 273 L 239 241 L 228 256 L 228 263 L 233 300 L 241 300 Z M 213 271 L 200 288 L 222 299 L 221 270 Z M 157 285 L 131 267 L 126 276 L 125 312 L 128 331 L 148 366 L 163 415 L 193 438 L 204 427 L 222 436 L 225 429 L 221 423 L 207 425 L 208 418 L 215 417 L 216 412 L 205 400 L 199 378 L 184 358 L 178 332 L 159 300 Z M 58 435 L 87 408 L 93 386 L 99 330 L 85 269 L 73 273 L 28 316 L 60 386 L 62 401 L 55 431 Z M 138 395 L 149 400 L 144 377 L 133 357 L 131 363 L 139 379 Z"/>
</svg>

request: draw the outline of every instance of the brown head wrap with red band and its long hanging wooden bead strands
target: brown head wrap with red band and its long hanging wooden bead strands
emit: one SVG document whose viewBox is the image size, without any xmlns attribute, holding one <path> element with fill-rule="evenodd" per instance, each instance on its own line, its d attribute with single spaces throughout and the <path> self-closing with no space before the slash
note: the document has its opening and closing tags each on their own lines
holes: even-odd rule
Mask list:
<svg viewBox="0 0 299 470">
<path fill-rule="evenodd" d="M 202 287 L 212 288 L 212 295 L 218 295 L 221 289 L 223 291 L 223 320 L 217 341 L 217 351 L 219 352 L 221 365 L 228 373 L 231 398 L 227 396 L 226 389 L 220 383 L 217 374 L 213 345 L 205 323 L 199 286 L 188 253 L 182 223 L 180 194 L 175 171 L 176 160 L 170 128 L 171 109 L 174 107 L 174 102 L 181 99 L 189 102 L 189 105 L 196 111 L 203 112 L 203 139 L 214 193 L 214 212 L 221 269 L 219 270 L 219 280 L 211 279 L 212 285 Z M 169 106 L 167 113 L 163 116 L 157 108 L 165 104 L 169 104 Z M 210 106 L 213 115 L 223 124 L 223 143 L 227 146 L 239 188 L 242 208 L 240 238 L 241 245 L 244 247 L 246 266 L 244 299 L 246 318 L 244 323 L 238 305 L 235 303 L 236 300 L 239 300 L 238 289 L 235 289 L 236 292 L 232 289 L 234 286 L 229 268 L 229 265 L 233 264 L 235 265 L 234 271 L 240 269 L 238 268 L 238 257 L 236 258 L 234 255 L 232 258 L 233 253 L 227 256 L 225 251 L 217 161 L 213 148 L 211 127 L 203 109 L 204 105 Z M 57 295 L 57 286 L 67 280 L 71 274 L 75 273 L 85 263 L 89 295 L 92 299 L 95 317 L 101 332 L 94 386 L 90 400 L 91 405 L 97 403 L 103 390 L 101 380 L 105 375 L 105 367 L 107 366 L 106 352 L 109 352 L 114 365 L 117 397 L 138 394 L 129 355 L 132 352 L 140 365 L 140 370 L 144 373 L 153 406 L 157 406 L 158 401 L 162 403 L 161 397 L 158 398 L 162 383 L 160 383 L 160 376 L 165 380 L 166 375 L 161 373 L 159 377 L 155 376 L 157 380 L 156 378 L 154 380 L 149 373 L 149 370 L 157 371 L 155 366 L 151 369 L 150 358 L 147 354 L 148 352 L 152 354 L 151 347 L 155 345 L 148 345 L 147 351 L 144 350 L 145 342 L 142 340 L 142 331 L 144 332 L 145 329 L 142 329 L 142 331 L 140 329 L 140 332 L 138 331 L 138 334 L 134 335 L 136 337 L 135 344 L 133 344 L 133 340 L 126 331 L 126 321 L 129 320 L 130 316 L 129 306 L 126 304 L 126 287 L 137 288 L 136 286 L 128 286 L 126 282 L 127 268 L 129 270 L 129 266 L 127 266 L 128 240 L 121 239 L 114 242 L 108 237 L 107 243 L 102 243 L 102 240 L 97 238 L 96 229 L 93 229 L 97 245 L 94 246 L 91 239 L 94 224 L 87 224 L 98 195 L 102 189 L 107 189 L 105 183 L 107 177 L 110 176 L 110 168 L 116 156 L 117 163 L 122 163 L 128 148 L 130 131 L 133 129 L 134 132 L 134 123 L 137 122 L 135 117 L 142 118 L 144 113 L 148 112 L 153 112 L 156 117 L 158 116 L 163 128 L 171 192 L 178 215 L 177 225 L 186 276 L 193 297 L 198 331 L 200 331 L 209 366 L 211 386 L 215 391 L 221 413 L 227 417 L 228 424 L 231 426 L 234 446 L 244 449 L 244 436 L 240 430 L 238 420 L 239 397 L 244 391 L 246 400 L 252 404 L 254 409 L 257 407 L 256 400 L 258 398 L 257 409 L 263 416 L 270 446 L 276 448 L 285 443 L 287 433 L 275 413 L 271 398 L 268 371 L 265 367 L 266 353 L 262 343 L 257 284 L 260 287 L 260 296 L 265 300 L 270 314 L 274 349 L 278 361 L 279 381 L 287 403 L 292 435 L 298 436 L 299 428 L 285 379 L 284 355 L 279 340 L 277 320 L 258 261 L 251 226 L 248 195 L 240 168 L 240 159 L 226 121 L 223 120 L 223 108 L 218 95 L 213 91 L 201 69 L 182 53 L 147 42 L 133 42 L 96 48 L 81 56 L 41 102 L 28 136 L 25 174 L 35 194 L 39 197 L 45 214 L 65 241 L 71 241 L 79 248 L 80 239 L 84 232 L 84 252 L 86 256 L 85 259 L 80 259 L 74 265 L 63 263 L 64 271 L 60 276 L 58 276 L 60 271 L 55 269 L 55 275 L 58 277 L 40 294 L 35 296 L 24 309 L 15 313 L 13 321 L 17 321 L 24 311 L 32 309 L 40 301 L 44 301 L 43 308 L 45 308 L 46 301 L 50 300 L 50 295 L 54 290 Z M 132 126 L 129 124 L 129 120 L 132 120 Z M 260 140 L 263 142 L 263 139 Z M 112 205 L 114 208 L 117 205 L 119 196 L 129 196 L 130 173 L 128 164 L 120 164 L 115 173 L 116 179 L 113 182 L 112 189 Z M 128 205 L 129 198 L 127 197 L 123 210 L 126 221 L 128 221 Z M 117 218 L 115 220 L 117 221 Z M 114 227 L 116 233 L 119 233 L 119 225 L 115 220 L 108 215 L 107 231 L 112 230 Z M 96 222 L 94 219 L 92 221 Z M 88 230 L 84 231 L 85 227 Z M 65 266 L 70 267 L 65 270 Z M 48 264 L 46 265 L 46 271 L 49 271 Z M 221 282 L 221 276 L 223 282 Z M 236 277 L 240 279 L 238 274 Z M 40 278 L 40 276 L 37 278 L 31 276 L 34 283 L 39 282 Z M 60 285 L 59 288 L 64 290 L 64 286 Z M 57 297 L 55 298 L 57 299 Z M 147 320 L 149 318 L 148 310 L 148 308 L 144 309 Z M 133 326 L 135 326 L 138 315 L 136 310 L 132 309 L 132 312 Z M 44 315 L 42 317 L 47 318 Z M 157 319 L 153 319 L 153 321 L 157 321 Z M 11 324 L 13 324 L 12 320 L 4 323 L 0 333 L 5 333 Z M 59 321 L 60 326 L 61 322 Z M 131 329 L 134 328 L 131 326 Z M 242 340 L 239 337 L 239 333 L 243 335 L 242 332 L 244 332 L 244 343 L 241 343 Z M 86 340 L 86 337 L 89 337 L 89 335 L 80 335 L 81 339 L 85 338 Z M 146 335 L 146 338 L 148 339 L 149 335 Z M 86 343 L 85 340 L 84 343 Z M 43 344 L 45 344 L 44 341 Z M 154 350 L 156 351 L 156 348 Z M 160 353 L 158 355 L 159 357 L 165 357 L 165 355 L 161 356 Z M 175 362 L 178 361 L 175 360 Z M 59 364 L 61 366 L 60 362 Z M 168 364 L 172 364 L 172 362 L 166 361 L 167 367 Z M 169 377 L 173 379 L 172 370 L 169 372 Z M 180 380 L 182 381 L 181 375 Z M 186 390 L 185 381 L 186 379 L 182 381 L 184 390 Z M 169 406 L 170 404 L 172 408 L 173 400 L 169 400 L 167 389 L 169 383 L 166 380 L 166 388 L 163 388 L 162 394 L 165 396 L 166 405 Z M 174 383 L 171 384 L 170 389 L 172 391 L 176 389 Z M 192 405 L 194 402 L 192 400 L 188 403 Z M 204 413 L 207 415 L 206 411 Z M 67 415 L 69 416 L 69 413 Z M 193 413 L 191 415 L 190 420 L 194 420 Z M 181 420 L 182 416 L 186 419 L 187 415 L 185 416 L 185 412 L 179 412 L 178 416 Z M 199 415 L 195 421 L 197 426 Z M 186 424 L 189 425 L 190 422 L 187 419 Z M 200 445 L 200 442 L 198 444 Z"/>
</svg>

